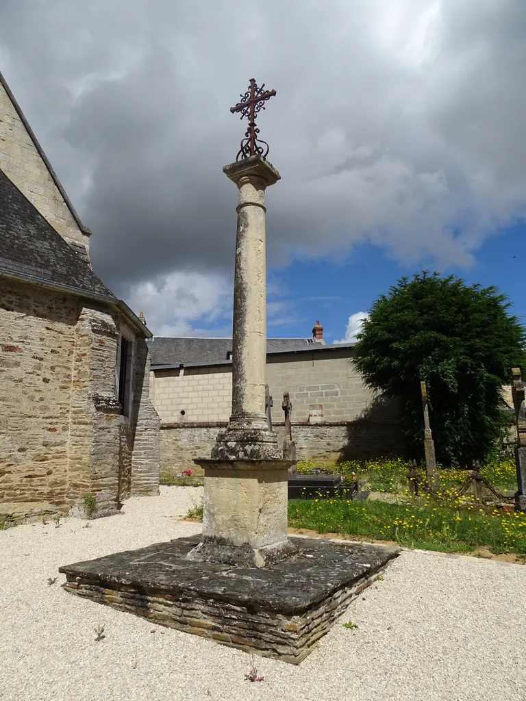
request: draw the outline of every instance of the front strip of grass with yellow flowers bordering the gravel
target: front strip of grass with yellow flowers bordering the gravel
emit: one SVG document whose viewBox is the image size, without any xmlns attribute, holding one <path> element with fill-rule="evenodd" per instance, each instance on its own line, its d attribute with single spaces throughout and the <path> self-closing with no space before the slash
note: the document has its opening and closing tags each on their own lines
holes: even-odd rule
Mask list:
<svg viewBox="0 0 526 701">
<path fill-rule="evenodd" d="M 356 538 L 393 540 L 405 547 L 441 552 L 492 552 L 526 555 L 526 516 L 477 507 L 451 508 L 429 501 L 391 504 L 346 499 L 295 499 L 288 503 L 292 528 L 343 533 Z"/>
</svg>

